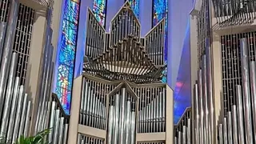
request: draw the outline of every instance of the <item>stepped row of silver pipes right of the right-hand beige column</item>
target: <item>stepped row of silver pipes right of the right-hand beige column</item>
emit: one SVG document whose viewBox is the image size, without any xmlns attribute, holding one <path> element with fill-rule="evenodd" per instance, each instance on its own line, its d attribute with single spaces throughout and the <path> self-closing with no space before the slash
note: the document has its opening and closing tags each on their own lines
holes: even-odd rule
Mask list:
<svg viewBox="0 0 256 144">
<path fill-rule="evenodd" d="M 250 61 L 248 39 L 240 39 L 242 85 L 236 85 L 236 103 L 218 123 L 219 143 L 256 142 L 256 65 Z"/>
</svg>

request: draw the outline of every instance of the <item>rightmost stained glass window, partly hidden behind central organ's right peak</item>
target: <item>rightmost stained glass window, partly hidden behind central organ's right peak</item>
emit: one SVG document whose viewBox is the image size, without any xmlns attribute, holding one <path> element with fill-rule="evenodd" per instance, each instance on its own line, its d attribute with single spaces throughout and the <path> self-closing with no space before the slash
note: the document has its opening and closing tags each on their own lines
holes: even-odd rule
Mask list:
<svg viewBox="0 0 256 144">
<path fill-rule="evenodd" d="M 168 0 L 153 0 L 153 26 L 165 18 L 165 62 L 167 62 L 168 49 Z M 162 82 L 166 82 L 166 70 Z"/>
</svg>

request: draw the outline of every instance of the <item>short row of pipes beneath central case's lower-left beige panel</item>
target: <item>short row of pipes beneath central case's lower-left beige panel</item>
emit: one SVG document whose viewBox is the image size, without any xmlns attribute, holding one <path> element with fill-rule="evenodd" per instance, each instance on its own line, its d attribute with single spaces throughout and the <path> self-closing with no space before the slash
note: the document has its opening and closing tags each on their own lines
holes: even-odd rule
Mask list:
<svg viewBox="0 0 256 144">
<path fill-rule="evenodd" d="M 103 144 L 104 140 L 100 138 L 93 138 L 83 134 L 78 134 L 78 144 Z"/>
</svg>

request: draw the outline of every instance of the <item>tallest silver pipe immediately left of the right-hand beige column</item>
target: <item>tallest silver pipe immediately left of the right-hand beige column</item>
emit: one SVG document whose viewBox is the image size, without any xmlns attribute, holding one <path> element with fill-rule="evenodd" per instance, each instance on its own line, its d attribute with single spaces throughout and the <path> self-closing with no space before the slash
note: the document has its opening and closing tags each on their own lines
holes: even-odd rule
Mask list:
<svg viewBox="0 0 256 144">
<path fill-rule="evenodd" d="M 215 143 L 215 106 L 213 96 L 213 82 L 212 82 L 212 59 L 210 38 L 206 38 L 206 74 L 207 74 L 207 97 L 209 98 L 209 118 L 210 118 L 210 143 Z"/>
</svg>

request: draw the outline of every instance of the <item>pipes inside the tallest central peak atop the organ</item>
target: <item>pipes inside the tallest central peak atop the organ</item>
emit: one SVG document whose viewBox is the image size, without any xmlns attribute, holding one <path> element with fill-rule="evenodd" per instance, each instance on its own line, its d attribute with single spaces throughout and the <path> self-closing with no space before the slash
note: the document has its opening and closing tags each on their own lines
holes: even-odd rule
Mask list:
<svg viewBox="0 0 256 144">
<path fill-rule="evenodd" d="M 133 10 L 123 7 L 111 21 L 110 47 L 115 46 L 128 35 L 140 37 L 140 24 Z"/>
</svg>

